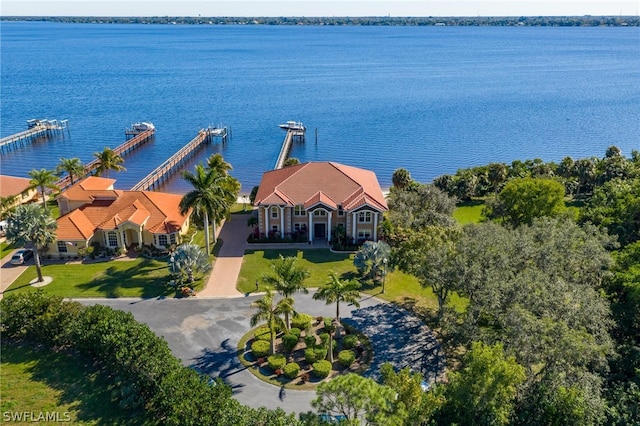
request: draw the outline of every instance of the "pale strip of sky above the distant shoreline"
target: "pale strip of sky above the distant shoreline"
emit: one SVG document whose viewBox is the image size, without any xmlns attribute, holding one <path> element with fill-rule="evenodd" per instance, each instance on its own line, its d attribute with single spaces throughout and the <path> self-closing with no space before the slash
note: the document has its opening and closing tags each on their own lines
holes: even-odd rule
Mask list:
<svg viewBox="0 0 640 426">
<path fill-rule="evenodd" d="M 0 0 L 0 16 L 639 15 L 639 0 Z"/>
</svg>

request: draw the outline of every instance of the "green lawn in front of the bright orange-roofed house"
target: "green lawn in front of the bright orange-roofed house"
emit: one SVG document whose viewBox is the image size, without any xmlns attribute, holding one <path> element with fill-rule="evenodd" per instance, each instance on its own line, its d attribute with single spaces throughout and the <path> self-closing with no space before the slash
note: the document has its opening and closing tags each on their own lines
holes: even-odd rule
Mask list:
<svg viewBox="0 0 640 426">
<path fill-rule="evenodd" d="M 48 294 L 62 297 L 151 298 L 175 294 L 167 287 L 167 263 L 158 260 L 44 265 L 42 274 L 52 277 L 53 282 L 41 288 Z M 5 296 L 13 292 L 35 291 L 29 281 L 36 277 L 35 266 L 30 266 L 5 291 Z"/>
</svg>

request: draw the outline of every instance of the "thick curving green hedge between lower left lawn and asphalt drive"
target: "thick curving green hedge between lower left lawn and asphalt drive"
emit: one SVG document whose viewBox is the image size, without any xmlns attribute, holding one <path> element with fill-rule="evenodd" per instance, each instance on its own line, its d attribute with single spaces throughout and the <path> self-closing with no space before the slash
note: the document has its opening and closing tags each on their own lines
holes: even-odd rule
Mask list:
<svg viewBox="0 0 640 426">
<path fill-rule="evenodd" d="M 42 291 L 0 301 L 3 337 L 69 348 L 110 372 L 114 399 L 127 410 L 144 410 L 150 424 L 297 425 L 284 411 L 254 410 L 231 397 L 219 379 L 184 367 L 166 341 L 130 313 L 102 305 L 84 307 Z"/>
</svg>

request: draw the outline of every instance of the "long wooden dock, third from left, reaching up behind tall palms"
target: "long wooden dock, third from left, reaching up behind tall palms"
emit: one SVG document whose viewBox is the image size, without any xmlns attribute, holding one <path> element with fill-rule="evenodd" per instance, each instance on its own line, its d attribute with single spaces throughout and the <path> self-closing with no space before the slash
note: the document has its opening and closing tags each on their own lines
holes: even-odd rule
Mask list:
<svg viewBox="0 0 640 426">
<path fill-rule="evenodd" d="M 180 166 L 191 157 L 203 144 L 211 143 L 215 138 L 222 138 L 223 143 L 227 140 L 227 130 L 218 131 L 221 128 L 209 127 L 201 129 L 198 135 L 189 143 L 180 148 L 178 152 L 169 157 L 164 163 L 153 169 L 151 173 L 145 176 L 140 182 L 135 184 L 131 191 L 148 191 L 156 185 L 165 182 L 170 175 L 175 173 Z M 224 136 L 223 134 L 224 133 Z"/>
</svg>

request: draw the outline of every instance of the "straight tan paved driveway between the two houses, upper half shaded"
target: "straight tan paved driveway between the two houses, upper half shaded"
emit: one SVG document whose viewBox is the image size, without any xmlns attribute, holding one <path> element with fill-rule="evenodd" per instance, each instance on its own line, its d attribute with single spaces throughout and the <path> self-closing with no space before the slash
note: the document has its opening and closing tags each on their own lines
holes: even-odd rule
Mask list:
<svg viewBox="0 0 640 426">
<path fill-rule="evenodd" d="M 242 268 L 242 257 L 247 248 L 247 237 L 250 229 L 247 220 L 251 213 L 234 214 L 220 227 L 218 238 L 222 239 L 222 247 L 213 263 L 213 270 L 198 297 L 240 297 L 236 283 Z"/>
</svg>

